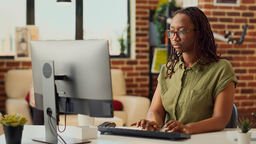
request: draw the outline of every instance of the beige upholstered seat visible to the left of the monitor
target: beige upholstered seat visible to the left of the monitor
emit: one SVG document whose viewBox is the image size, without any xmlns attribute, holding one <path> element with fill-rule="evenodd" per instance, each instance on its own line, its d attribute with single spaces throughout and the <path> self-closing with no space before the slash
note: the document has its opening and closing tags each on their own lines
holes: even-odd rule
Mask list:
<svg viewBox="0 0 256 144">
<path fill-rule="evenodd" d="M 26 101 L 31 80 L 31 69 L 8 70 L 5 77 L 6 114 L 22 114 L 28 119 L 26 125 L 33 124 L 29 104 Z"/>
</svg>

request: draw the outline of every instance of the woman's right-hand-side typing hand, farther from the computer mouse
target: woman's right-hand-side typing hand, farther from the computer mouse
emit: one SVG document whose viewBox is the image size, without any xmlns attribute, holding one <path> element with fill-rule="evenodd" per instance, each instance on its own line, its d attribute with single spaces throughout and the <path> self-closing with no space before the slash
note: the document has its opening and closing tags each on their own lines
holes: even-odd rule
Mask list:
<svg viewBox="0 0 256 144">
<path fill-rule="evenodd" d="M 171 132 L 182 132 L 189 134 L 189 127 L 177 120 L 170 120 L 164 125 L 164 127 L 166 128 L 165 132 L 171 130 Z"/>
</svg>

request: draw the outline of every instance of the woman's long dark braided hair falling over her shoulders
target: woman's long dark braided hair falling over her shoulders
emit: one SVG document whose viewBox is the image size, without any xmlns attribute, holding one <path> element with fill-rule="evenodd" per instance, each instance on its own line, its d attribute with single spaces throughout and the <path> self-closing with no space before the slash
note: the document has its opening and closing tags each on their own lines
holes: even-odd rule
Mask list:
<svg viewBox="0 0 256 144">
<path fill-rule="evenodd" d="M 174 16 L 176 14 L 186 14 L 191 18 L 191 21 L 196 26 L 196 35 L 198 37 L 196 38 L 194 44 L 194 58 L 199 64 L 200 70 L 202 70 L 202 65 L 209 66 L 211 62 L 218 62 L 219 59 L 223 59 L 220 57 L 221 54 L 218 56 L 216 53 L 217 48 L 214 41 L 214 35 L 210 28 L 210 23 L 202 10 L 196 7 L 188 7 L 177 10 L 174 13 Z M 174 67 L 179 61 L 179 57 L 181 55 L 182 53 L 177 52 L 171 45 L 171 56 L 166 62 L 167 70 L 165 79 L 168 77 L 171 78 L 172 74 L 174 73 Z M 206 58 L 206 62 L 203 61 L 203 57 Z M 169 62 L 171 62 L 171 64 L 168 65 Z M 170 72 L 168 72 L 169 70 Z"/>
</svg>

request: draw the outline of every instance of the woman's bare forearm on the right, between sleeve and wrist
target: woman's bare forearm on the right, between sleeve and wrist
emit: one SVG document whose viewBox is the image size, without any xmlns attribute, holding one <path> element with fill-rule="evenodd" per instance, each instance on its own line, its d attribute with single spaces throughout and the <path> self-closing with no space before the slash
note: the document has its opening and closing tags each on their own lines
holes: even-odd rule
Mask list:
<svg viewBox="0 0 256 144">
<path fill-rule="evenodd" d="M 186 124 L 185 126 L 189 129 L 189 134 L 198 134 L 203 132 L 212 132 L 223 130 L 226 126 L 226 120 L 222 117 L 213 117 L 200 122 L 193 122 Z"/>
</svg>

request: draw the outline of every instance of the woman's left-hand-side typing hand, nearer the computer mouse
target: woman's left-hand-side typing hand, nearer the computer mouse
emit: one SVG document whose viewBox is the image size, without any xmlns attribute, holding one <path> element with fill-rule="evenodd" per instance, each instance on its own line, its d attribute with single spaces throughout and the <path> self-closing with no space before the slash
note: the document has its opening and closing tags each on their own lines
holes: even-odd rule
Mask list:
<svg viewBox="0 0 256 144">
<path fill-rule="evenodd" d="M 131 124 L 131 126 L 141 127 L 141 130 L 159 131 L 160 126 L 151 120 L 140 119 L 138 122 Z"/>
</svg>

